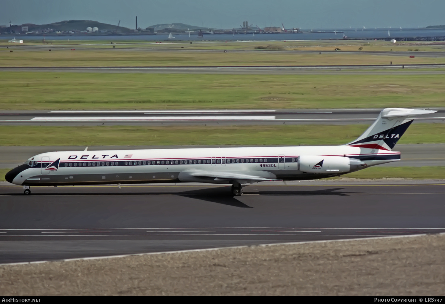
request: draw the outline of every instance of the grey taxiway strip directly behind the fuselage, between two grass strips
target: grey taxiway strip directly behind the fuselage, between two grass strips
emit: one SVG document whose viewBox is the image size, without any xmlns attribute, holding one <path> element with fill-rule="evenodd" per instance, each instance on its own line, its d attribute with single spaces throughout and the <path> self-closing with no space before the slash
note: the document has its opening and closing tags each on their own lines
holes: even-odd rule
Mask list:
<svg viewBox="0 0 445 304">
<path fill-rule="evenodd" d="M 346 141 L 345 141 L 346 143 Z M 89 146 L 94 150 L 211 148 L 233 146 Z M 83 151 L 85 146 L 0 146 L 0 169 L 12 169 L 32 156 L 52 151 Z M 445 166 L 445 144 L 397 144 L 394 151 L 401 152 L 401 160 L 379 165 L 384 167 Z"/>
</svg>

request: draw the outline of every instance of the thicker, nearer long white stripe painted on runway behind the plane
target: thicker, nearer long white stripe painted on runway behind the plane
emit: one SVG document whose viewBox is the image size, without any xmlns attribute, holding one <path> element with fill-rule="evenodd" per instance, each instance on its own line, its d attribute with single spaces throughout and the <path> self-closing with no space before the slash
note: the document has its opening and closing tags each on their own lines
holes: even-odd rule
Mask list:
<svg viewBox="0 0 445 304">
<path fill-rule="evenodd" d="M 129 121 L 129 120 L 274 120 L 275 116 L 71 116 L 71 117 L 34 117 L 33 121 Z"/>
</svg>

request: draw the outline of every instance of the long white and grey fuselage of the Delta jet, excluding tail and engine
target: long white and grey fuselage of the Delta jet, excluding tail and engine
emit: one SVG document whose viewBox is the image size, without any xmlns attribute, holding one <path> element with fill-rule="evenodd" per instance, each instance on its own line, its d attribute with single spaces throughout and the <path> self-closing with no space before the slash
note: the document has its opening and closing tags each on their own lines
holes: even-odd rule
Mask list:
<svg viewBox="0 0 445 304">
<path fill-rule="evenodd" d="M 349 157 L 364 163 L 350 172 L 400 160 L 400 152 L 351 146 L 48 152 L 29 159 L 31 165 L 26 165 L 29 168 L 22 167 L 10 179 L 13 184 L 30 186 L 190 181 L 230 184 L 230 178 L 193 179 L 190 176 L 184 177 L 184 172 L 242 172 L 270 180 L 308 180 L 345 173 L 318 174 L 300 171 L 300 156 Z M 57 165 L 49 166 L 58 159 Z"/>
</svg>

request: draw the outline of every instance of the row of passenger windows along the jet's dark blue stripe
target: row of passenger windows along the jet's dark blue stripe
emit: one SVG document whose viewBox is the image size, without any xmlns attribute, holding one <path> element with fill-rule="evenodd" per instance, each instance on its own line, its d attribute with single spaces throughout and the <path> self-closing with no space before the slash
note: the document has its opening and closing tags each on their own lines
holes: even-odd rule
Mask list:
<svg viewBox="0 0 445 304">
<path fill-rule="evenodd" d="M 280 158 L 280 162 L 282 158 Z M 283 159 L 284 160 L 284 159 Z M 295 162 L 298 159 L 286 159 L 288 162 Z M 239 163 L 276 163 L 276 158 L 217 158 L 207 160 L 139 160 L 139 161 L 107 161 L 107 162 L 73 162 L 65 163 L 65 167 L 100 167 L 100 166 L 136 166 L 136 165 L 163 165 L 163 164 L 239 164 Z"/>
</svg>

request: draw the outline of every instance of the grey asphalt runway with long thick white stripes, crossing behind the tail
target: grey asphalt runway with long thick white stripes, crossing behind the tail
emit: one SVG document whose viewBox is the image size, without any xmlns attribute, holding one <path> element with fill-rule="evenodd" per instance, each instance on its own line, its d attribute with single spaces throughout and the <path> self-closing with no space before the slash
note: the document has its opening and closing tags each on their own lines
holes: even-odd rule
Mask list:
<svg viewBox="0 0 445 304">
<path fill-rule="evenodd" d="M 445 108 L 416 118 L 445 123 Z M 372 124 L 381 109 L 0 111 L 3 125 Z"/>
</svg>

